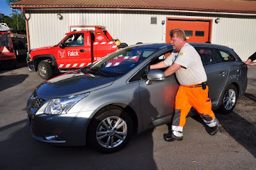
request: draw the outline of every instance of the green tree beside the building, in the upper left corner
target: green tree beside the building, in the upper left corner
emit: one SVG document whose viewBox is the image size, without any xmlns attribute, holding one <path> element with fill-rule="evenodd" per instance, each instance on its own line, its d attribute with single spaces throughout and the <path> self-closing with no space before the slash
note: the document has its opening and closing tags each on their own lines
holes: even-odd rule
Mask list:
<svg viewBox="0 0 256 170">
<path fill-rule="evenodd" d="M 19 1 L 21 0 L 6 0 L 6 3 L 10 5 L 12 3 L 17 3 Z M 10 19 L 7 19 L 7 22 L 8 23 L 6 22 L 5 23 L 12 29 L 26 30 L 26 21 L 24 19 L 24 16 L 21 10 L 18 10 L 18 9 L 12 10 L 11 17 Z"/>
</svg>

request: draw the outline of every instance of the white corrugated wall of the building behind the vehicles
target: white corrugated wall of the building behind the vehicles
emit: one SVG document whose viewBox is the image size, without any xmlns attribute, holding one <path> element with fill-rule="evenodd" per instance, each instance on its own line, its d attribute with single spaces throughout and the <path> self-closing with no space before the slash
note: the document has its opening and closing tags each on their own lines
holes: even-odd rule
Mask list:
<svg viewBox="0 0 256 170">
<path fill-rule="evenodd" d="M 58 19 L 60 13 L 63 19 Z M 106 10 L 48 10 L 26 11 L 29 19 L 31 49 L 55 45 L 68 33 L 69 26 L 106 26 L 111 36 L 133 45 L 137 42 L 165 42 L 166 17 L 212 19 L 211 42 L 234 49 L 246 60 L 256 51 L 256 15 L 218 15 L 204 13 L 106 11 Z M 157 24 L 150 24 L 157 17 Z M 220 18 L 216 24 L 214 20 Z"/>
</svg>

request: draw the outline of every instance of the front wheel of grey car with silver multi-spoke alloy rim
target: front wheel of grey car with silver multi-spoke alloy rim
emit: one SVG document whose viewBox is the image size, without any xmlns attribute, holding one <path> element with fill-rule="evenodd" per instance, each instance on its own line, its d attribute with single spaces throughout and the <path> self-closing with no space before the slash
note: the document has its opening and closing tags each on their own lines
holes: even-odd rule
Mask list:
<svg viewBox="0 0 256 170">
<path fill-rule="evenodd" d="M 88 143 L 102 153 L 121 150 L 133 134 L 133 123 L 127 112 L 112 107 L 99 112 L 88 128 Z"/>
</svg>

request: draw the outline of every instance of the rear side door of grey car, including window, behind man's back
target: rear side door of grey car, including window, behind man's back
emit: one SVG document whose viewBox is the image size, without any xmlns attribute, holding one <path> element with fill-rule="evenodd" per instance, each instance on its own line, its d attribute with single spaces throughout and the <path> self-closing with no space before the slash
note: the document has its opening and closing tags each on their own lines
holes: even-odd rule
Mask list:
<svg viewBox="0 0 256 170">
<path fill-rule="evenodd" d="M 216 49 L 209 47 L 195 47 L 195 49 L 202 59 L 207 74 L 209 98 L 212 100 L 212 106 L 215 106 L 218 104 L 221 92 L 227 82 L 229 68 L 220 59 L 220 55 L 216 52 Z"/>
</svg>

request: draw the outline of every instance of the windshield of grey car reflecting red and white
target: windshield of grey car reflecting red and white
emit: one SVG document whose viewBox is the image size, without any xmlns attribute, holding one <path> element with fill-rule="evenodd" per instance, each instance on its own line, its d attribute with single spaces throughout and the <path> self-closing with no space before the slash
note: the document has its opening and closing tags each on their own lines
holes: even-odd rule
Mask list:
<svg viewBox="0 0 256 170">
<path fill-rule="evenodd" d="M 83 68 L 82 71 L 98 72 L 108 77 L 118 77 L 132 70 L 134 66 L 157 50 L 159 49 L 148 46 L 125 48 L 109 54 L 109 56 L 100 59 L 93 65 Z"/>
</svg>

